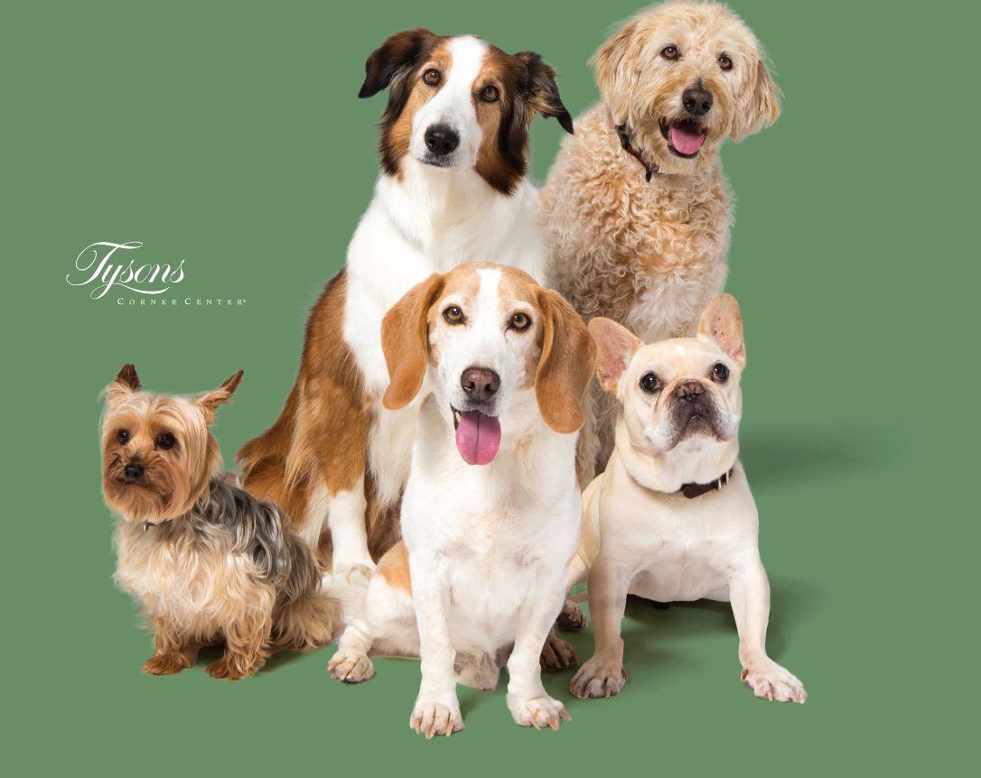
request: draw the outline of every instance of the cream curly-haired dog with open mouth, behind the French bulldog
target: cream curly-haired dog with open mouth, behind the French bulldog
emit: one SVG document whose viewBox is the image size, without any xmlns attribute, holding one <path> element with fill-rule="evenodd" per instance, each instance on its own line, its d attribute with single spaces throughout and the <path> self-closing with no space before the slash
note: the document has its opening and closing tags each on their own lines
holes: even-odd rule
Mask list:
<svg viewBox="0 0 981 778">
<path fill-rule="evenodd" d="M 780 107 L 746 24 L 712 3 L 640 13 L 596 52 L 602 102 L 576 120 L 542 190 L 549 280 L 587 320 L 646 342 L 692 335 L 722 291 L 732 224 L 719 147 Z M 594 386 L 580 481 L 612 450 L 615 403 Z"/>
</svg>

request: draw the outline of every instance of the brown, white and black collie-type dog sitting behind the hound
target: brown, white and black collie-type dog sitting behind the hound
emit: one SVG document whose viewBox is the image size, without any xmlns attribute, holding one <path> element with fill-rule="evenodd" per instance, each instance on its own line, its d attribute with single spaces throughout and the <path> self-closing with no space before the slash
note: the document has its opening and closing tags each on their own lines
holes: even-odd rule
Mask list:
<svg viewBox="0 0 981 778">
<path fill-rule="evenodd" d="M 283 508 L 312 547 L 330 529 L 332 570 L 346 581 L 366 579 L 371 552 L 378 559 L 398 536 L 393 509 L 419 412 L 418 403 L 382 406 L 383 316 L 430 274 L 463 263 L 519 267 L 541 281 L 529 125 L 540 114 L 572 132 L 555 73 L 532 52 L 415 29 L 388 38 L 365 71 L 359 97 L 388 89 L 382 175 L 346 267 L 307 321 L 283 412 L 238 452 L 245 488 Z"/>
</svg>

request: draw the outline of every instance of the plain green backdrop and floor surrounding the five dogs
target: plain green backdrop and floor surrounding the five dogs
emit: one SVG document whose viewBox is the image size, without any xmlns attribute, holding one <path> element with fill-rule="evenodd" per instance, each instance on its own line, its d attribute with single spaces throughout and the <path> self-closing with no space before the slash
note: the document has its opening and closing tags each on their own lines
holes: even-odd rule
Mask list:
<svg viewBox="0 0 981 778">
<path fill-rule="evenodd" d="M 111 581 L 99 390 L 134 362 L 161 391 L 245 370 L 217 432 L 227 462 L 292 383 L 306 313 L 340 266 L 377 173 L 384 98 L 355 98 L 387 34 L 428 25 L 534 49 L 574 116 L 586 62 L 636 0 L 602 3 L 5 4 L 4 656 L 8 774 L 949 774 L 976 754 L 977 68 L 966 4 L 736 2 L 784 114 L 729 144 L 729 290 L 744 311 L 744 461 L 773 585 L 769 647 L 806 705 L 738 680 L 726 608 L 625 625 L 630 683 L 515 726 L 503 689 L 461 690 L 467 730 L 410 733 L 416 662 L 343 687 L 331 650 L 229 684 L 150 678 Z M 907 10 L 908 9 L 908 10 Z M 537 121 L 542 181 L 561 130 Z M 97 240 L 184 260 L 178 297 L 130 309 L 65 276 Z M 592 638 L 573 642 L 589 656 Z M 973 726 L 968 726 L 973 721 Z"/>
</svg>

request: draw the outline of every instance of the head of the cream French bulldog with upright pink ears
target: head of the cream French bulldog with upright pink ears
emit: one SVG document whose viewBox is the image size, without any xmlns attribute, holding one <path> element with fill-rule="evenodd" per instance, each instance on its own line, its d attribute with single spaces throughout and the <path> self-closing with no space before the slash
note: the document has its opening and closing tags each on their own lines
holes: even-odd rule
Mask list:
<svg viewBox="0 0 981 778">
<path fill-rule="evenodd" d="M 590 331 L 599 381 L 623 404 L 634 448 L 666 454 L 683 442 L 700 447 L 737 436 L 746 348 L 733 297 L 720 295 L 709 303 L 695 338 L 644 345 L 604 318 L 591 321 Z"/>
</svg>

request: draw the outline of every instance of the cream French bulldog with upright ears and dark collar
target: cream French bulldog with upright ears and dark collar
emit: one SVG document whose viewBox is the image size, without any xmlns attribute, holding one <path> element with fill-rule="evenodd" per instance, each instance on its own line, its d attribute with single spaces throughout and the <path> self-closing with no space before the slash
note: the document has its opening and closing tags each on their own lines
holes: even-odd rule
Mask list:
<svg viewBox="0 0 981 778">
<path fill-rule="evenodd" d="M 758 517 L 738 460 L 746 346 L 739 304 L 713 298 L 695 338 L 644 345 L 608 318 L 590 321 L 600 385 L 621 403 L 616 448 L 583 494 L 572 580 L 589 574 L 595 651 L 572 679 L 577 697 L 627 681 L 620 637 L 627 595 L 730 602 L 742 679 L 756 697 L 803 703 L 800 680 L 766 654 L 770 590 Z"/>
</svg>

